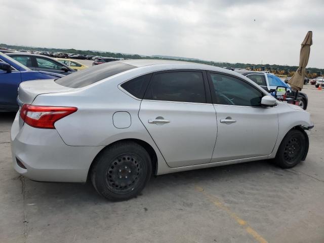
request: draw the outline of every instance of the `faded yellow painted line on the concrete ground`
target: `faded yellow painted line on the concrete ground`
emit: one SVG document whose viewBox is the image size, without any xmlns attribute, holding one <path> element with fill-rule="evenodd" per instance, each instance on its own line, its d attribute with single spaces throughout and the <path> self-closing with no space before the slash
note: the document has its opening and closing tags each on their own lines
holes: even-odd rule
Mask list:
<svg viewBox="0 0 324 243">
<path fill-rule="evenodd" d="M 265 240 L 265 238 L 263 238 L 260 234 L 258 234 L 257 231 L 255 231 L 251 226 L 249 226 L 249 224 L 247 223 L 247 221 L 242 220 L 241 218 L 239 218 L 234 212 L 232 212 L 226 205 L 224 205 L 216 196 L 208 194 L 203 187 L 200 186 L 195 186 L 194 188 L 196 191 L 199 191 L 201 193 L 203 193 L 209 200 L 212 201 L 212 203 L 219 209 L 224 210 L 229 216 L 231 216 L 233 219 L 235 219 L 235 221 L 243 226 L 245 228 L 245 230 L 247 231 L 247 233 L 249 233 L 250 235 L 252 235 L 258 242 L 260 243 L 268 243 L 267 240 Z"/>
</svg>

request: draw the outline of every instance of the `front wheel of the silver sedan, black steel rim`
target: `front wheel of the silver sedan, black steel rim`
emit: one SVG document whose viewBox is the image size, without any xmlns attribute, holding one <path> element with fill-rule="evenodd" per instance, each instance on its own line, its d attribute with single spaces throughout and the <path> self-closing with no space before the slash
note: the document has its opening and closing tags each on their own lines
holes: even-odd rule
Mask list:
<svg viewBox="0 0 324 243">
<path fill-rule="evenodd" d="M 281 168 L 292 168 L 301 161 L 305 149 L 305 135 L 299 130 L 290 130 L 281 141 L 275 162 Z"/>
</svg>

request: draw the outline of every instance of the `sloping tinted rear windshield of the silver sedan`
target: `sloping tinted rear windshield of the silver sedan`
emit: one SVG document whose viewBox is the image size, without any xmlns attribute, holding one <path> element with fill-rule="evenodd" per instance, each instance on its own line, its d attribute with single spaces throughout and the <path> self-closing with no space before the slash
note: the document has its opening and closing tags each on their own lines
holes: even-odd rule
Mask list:
<svg viewBox="0 0 324 243">
<path fill-rule="evenodd" d="M 104 78 L 133 69 L 135 66 L 120 62 L 108 62 L 73 72 L 55 80 L 55 83 L 68 88 L 82 88 Z"/>
</svg>

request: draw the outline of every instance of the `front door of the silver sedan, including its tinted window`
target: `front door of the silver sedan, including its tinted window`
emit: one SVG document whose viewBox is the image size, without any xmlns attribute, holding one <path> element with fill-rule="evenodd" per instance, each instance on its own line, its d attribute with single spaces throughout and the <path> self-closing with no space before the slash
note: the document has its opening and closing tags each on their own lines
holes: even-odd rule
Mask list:
<svg viewBox="0 0 324 243">
<path fill-rule="evenodd" d="M 212 162 L 271 154 L 278 135 L 276 107 L 262 107 L 265 95 L 244 79 L 209 73 L 217 115 L 217 140 Z"/>
</svg>

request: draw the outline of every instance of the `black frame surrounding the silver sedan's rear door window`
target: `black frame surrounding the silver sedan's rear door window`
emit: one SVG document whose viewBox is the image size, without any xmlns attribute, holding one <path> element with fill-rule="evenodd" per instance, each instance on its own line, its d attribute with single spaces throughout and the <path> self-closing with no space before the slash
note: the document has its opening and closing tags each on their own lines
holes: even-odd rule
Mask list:
<svg viewBox="0 0 324 243">
<path fill-rule="evenodd" d="M 204 103 L 197 103 L 197 102 L 184 102 L 184 101 L 168 101 L 168 100 L 150 100 L 150 99 L 145 99 L 147 95 L 147 89 L 151 84 L 151 81 L 154 77 L 154 75 L 159 74 L 159 73 L 168 73 L 168 72 L 201 72 L 203 74 L 203 84 L 204 84 L 204 91 L 205 91 L 205 98 L 206 102 Z M 152 76 L 150 78 L 149 83 L 146 86 L 146 91 L 143 96 L 143 100 L 145 101 L 152 101 L 152 102 L 171 102 L 171 103 L 184 103 L 184 104 L 213 104 L 212 102 L 212 96 L 211 96 L 211 90 L 208 84 L 208 78 L 207 78 L 207 73 L 206 70 L 203 69 L 169 69 L 169 70 L 161 70 L 161 71 L 155 71 L 152 73 Z"/>
</svg>

